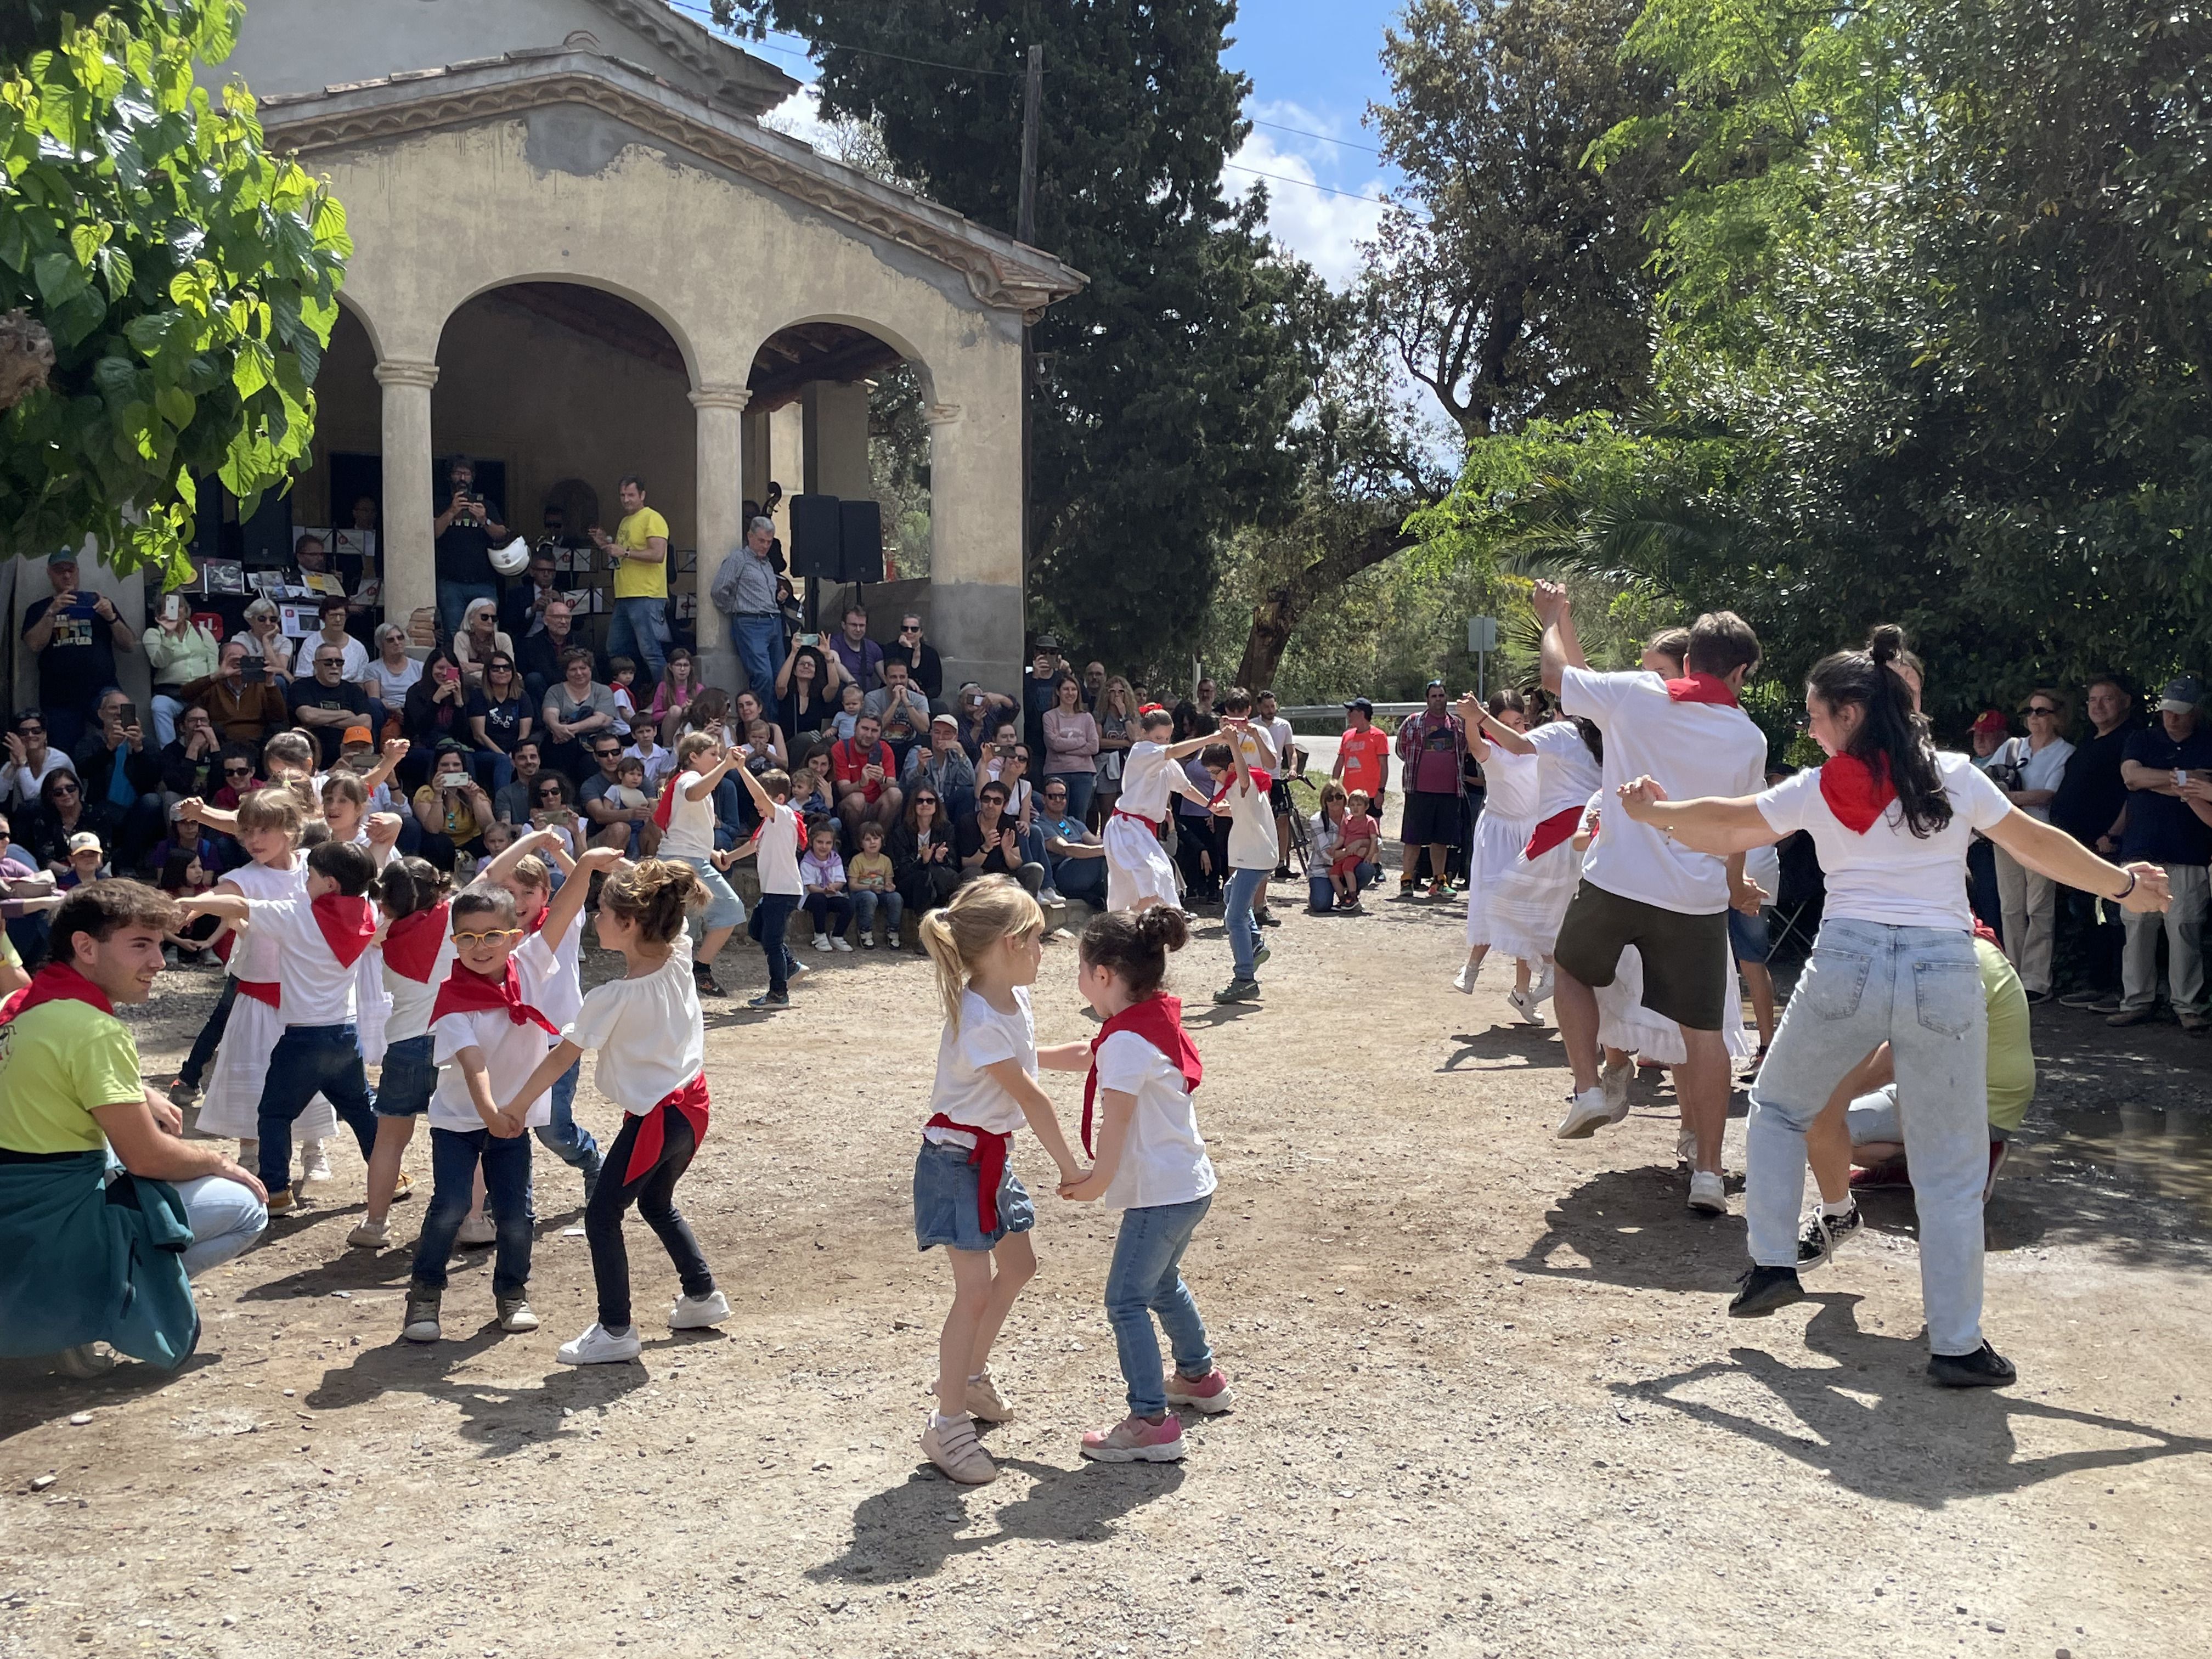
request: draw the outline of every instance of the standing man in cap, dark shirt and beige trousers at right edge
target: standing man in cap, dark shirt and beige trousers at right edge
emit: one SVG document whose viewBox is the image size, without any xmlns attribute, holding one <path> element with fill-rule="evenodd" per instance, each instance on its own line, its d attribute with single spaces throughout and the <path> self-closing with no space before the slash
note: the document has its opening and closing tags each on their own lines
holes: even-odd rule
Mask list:
<svg viewBox="0 0 2212 1659">
<path fill-rule="evenodd" d="M 2205 1004 L 2205 869 L 2212 865 L 2212 730 L 2205 730 L 2203 684 L 2185 675 L 2159 695 L 2159 723 L 2128 739 L 2119 776 L 2128 785 L 2128 830 L 2121 858 L 2166 865 L 2174 896 L 2166 911 L 2166 982 L 2181 1029 L 2212 1029 Z M 2121 956 L 2121 1006 L 2106 1024 L 2132 1026 L 2159 1000 L 2159 931 L 2154 914 L 2128 911 Z"/>
</svg>

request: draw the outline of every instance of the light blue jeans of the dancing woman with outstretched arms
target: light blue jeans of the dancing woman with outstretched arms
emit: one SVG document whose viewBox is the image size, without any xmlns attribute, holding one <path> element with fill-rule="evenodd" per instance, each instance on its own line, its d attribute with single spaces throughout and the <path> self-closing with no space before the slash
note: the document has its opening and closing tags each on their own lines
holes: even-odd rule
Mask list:
<svg viewBox="0 0 2212 1659">
<path fill-rule="evenodd" d="M 1805 1128 L 1882 1042 L 1896 1062 L 1920 1212 L 1931 1354 L 1982 1345 L 1982 1186 L 1989 1179 L 1989 1009 L 1973 936 L 1829 920 L 1752 1084 L 1743 1210 L 1752 1261 L 1796 1265 Z"/>
</svg>

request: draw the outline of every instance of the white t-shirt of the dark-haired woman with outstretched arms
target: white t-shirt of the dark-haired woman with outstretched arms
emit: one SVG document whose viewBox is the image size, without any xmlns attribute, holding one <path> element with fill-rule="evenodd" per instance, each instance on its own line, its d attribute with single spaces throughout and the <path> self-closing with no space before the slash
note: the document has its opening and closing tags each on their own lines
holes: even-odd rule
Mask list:
<svg viewBox="0 0 2212 1659">
<path fill-rule="evenodd" d="M 1820 914 L 1885 927 L 1973 927 L 1966 909 L 1966 845 L 2013 803 L 1964 754 L 1938 754 L 1951 823 L 1927 841 L 1905 827 L 1905 810 L 1889 805 L 1867 834 L 1845 830 L 1820 796 L 1820 768 L 1783 779 L 1759 796 L 1761 816 L 1776 834 L 1805 830 L 1820 854 L 1827 902 Z M 1613 816 L 1606 818 L 1613 834 Z"/>
</svg>

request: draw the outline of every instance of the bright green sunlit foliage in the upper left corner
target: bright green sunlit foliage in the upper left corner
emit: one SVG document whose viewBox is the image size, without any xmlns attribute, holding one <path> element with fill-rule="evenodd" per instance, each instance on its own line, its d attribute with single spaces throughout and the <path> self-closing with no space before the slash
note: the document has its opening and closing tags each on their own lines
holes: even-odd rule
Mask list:
<svg viewBox="0 0 2212 1659">
<path fill-rule="evenodd" d="M 197 473 L 248 502 L 301 467 L 352 252 L 345 215 L 272 157 L 252 100 L 210 100 L 237 0 L 128 0 L 0 29 L 0 314 L 53 369 L 0 414 L 0 551 L 100 540 L 181 571 Z"/>
</svg>

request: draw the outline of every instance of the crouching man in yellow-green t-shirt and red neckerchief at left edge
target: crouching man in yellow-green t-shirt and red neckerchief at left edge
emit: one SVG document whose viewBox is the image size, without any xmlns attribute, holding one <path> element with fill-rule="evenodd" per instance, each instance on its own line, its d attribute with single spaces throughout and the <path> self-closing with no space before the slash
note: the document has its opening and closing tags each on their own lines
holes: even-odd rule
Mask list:
<svg viewBox="0 0 2212 1659">
<path fill-rule="evenodd" d="M 175 1369 L 199 1340 L 190 1279 L 268 1223 L 261 1183 L 139 1082 L 115 1004 L 146 1002 L 175 905 L 111 880 L 53 916 L 55 960 L 0 1009 L 0 1354 Z M 122 1164 L 113 1175 L 108 1155 Z"/>
</svg>

